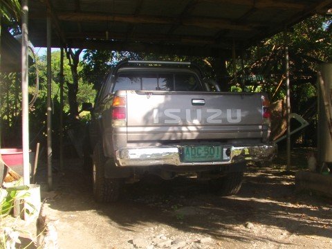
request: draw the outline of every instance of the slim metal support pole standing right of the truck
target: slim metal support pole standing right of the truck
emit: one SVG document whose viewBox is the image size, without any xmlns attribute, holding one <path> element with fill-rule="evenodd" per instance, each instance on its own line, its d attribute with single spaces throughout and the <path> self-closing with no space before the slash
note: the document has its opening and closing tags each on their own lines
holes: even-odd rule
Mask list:
<svg viewBox="0 0 332 249">
<path fill-rule="evenodd" d="M 286 120 L 287 120 L 287 168 L 291 167 L 291 91 L 289 88 L 289 55 L 288 55 L 288 35 L 284 31 L 285 46 L 285 75 L 286 75 Z"/>
</svg>

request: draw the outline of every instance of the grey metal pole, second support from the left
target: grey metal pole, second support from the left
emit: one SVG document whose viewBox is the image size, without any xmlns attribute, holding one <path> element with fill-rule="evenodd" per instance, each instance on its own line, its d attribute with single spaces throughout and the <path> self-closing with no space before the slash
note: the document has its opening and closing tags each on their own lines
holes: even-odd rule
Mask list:
<svg viewBox="0 0 332 249">
<path fill-rule="evenodd" d="M 47 178 L 48 191 L 52 190 L 52 79 L 50 68 L 51 21 L 47 17 Z"/>
</svg>

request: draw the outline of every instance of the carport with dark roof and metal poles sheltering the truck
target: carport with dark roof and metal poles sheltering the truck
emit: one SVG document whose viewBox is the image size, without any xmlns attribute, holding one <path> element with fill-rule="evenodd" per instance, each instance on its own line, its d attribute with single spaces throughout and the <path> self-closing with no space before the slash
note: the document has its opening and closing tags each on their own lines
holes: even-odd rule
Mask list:
<svg viewBox="0 0 332 249">
<path fill-rule="evenodd" d="M 212 56 L 224 61 L 234 59 L 242 50 L 286 31 L 306 17 L 326 13 L 332 0 L 24 0 L 22 5 L 28 6 L 24 17 L 28 17 L 30 41 L 48 48 L 48 183 L 51 186 L 50 47 Z M 22 27 L 26 26 L 27 19 L 22 18 L 22 22 Z M 26 29 L 22 28 L 24 32 Z M 23 51 L 26 53 L 26 49 Z M 22 75 L 26 75 L 25 65 L 22 62 Z M 22 86 L 27 84 L 22 78 Z M 24 104 L 23 107 L 27 108 Z M 289 116 L 287 120 L 289 124 Z M 288 129 L 288 164 L 289 132 Z M 23 144 L 28 154 L 28 142 Z M 24 161 L 27 165 L 28 160 Z"/>
</svg>

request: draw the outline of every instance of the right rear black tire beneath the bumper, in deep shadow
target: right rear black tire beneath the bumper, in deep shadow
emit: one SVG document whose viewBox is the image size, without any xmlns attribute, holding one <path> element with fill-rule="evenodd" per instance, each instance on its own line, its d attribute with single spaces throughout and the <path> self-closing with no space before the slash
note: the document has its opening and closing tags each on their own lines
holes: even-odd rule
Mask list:
<svg viewBox="0 0 332 249">
<path fill-rule="evenodd" d="M 210 190 L 220 196 L 232 196 L 241 188 L 243 172 L 232 172 L 221 178 L 210 180 Z"/>
</svg>

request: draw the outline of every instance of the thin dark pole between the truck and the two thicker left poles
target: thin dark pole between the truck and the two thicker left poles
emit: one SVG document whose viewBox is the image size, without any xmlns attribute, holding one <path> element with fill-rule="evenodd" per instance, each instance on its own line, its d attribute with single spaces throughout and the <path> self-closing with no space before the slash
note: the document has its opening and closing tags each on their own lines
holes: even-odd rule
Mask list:
<svg viewBox="0 0 332 249">
<path fill-rule="evenodd" d="M 64 48 L 61 48 L 60 53 L 60 125 L 59 125 L 59 147 L 60 147 L 60 170 L 64 172 L 64 150 L 63 150 L 63 137 L 64 137 Z"/>
</svg>

